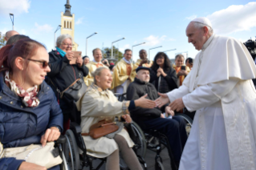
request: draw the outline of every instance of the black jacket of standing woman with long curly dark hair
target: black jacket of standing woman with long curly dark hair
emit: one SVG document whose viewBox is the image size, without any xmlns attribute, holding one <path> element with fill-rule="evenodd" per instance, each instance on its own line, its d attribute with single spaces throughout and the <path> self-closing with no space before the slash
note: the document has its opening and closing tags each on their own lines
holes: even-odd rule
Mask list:
<svg viewBox="0 0 256 170">
<path fill-rule="evenodd" d="M 171 67 L 168 71 L 165 70 L 165 74 L 166 74 L 165 77 L 163 77 L 162 75 L 161 77 L 166 80 L 168 86 L 165 87 L 163 91 L 160 91 L 161 93 L 167 93 L 177 88 L 177 75 L 173 67 Z M 158 89 L 158 79 L 159 77 L 157 77 L 156 71 L 151 70 L 149 82 L 152 83 L 156 87 L 156 89 Z"/>
</svg>

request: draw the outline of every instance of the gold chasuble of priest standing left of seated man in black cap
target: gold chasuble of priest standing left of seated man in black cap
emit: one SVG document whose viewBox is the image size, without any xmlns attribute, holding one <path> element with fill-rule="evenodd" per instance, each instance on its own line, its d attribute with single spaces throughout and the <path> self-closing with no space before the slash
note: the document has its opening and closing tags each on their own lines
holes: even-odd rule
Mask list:
<svg viewBox="0 0 256 170">
<path fill-rule="evenodd" d="M 126 63 L 124 59 L 116 63 L 113 71 L 112 89 L 123 84 L 129 77 L 131 82 L 133 82 L 135 75 L 133 74 L 132 68 L 133 64 Z"/>
</svg>

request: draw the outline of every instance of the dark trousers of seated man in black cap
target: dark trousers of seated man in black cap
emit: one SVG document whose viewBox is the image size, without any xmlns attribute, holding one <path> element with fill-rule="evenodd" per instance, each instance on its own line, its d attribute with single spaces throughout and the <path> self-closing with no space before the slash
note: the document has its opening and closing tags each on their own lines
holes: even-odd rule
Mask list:
<svg viewBox="0 0 256 170">
<path fill-rule="evenodd" d="M 156 118 L 143 121 L 136 121 L 143 130 L 157 130 L 167 136 L 174 160 L 180 162 L 182 150 L 187 141 L 185 131 L 185 119 L 180 116 L 173 116 L 173 119 Z"/>
</svg>

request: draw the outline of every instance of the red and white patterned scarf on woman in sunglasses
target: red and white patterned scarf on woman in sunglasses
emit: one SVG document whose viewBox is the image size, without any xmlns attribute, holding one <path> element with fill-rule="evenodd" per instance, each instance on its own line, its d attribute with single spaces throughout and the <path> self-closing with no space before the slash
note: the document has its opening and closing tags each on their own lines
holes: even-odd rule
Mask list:
<svg viewBox="0 0 256 170">
<path fill-rule="evenodd" d="M 38 86 L 35 85 L 35 87 L 30 87 L 26 91 L 18 86 L 17 83 L 14 82 L 14 80 L 11 80 L 9 78 L 9 71 L 6 71 L 5 76 L 6 83 L 10 83 L 10 90 L 14 91 L 16 95 L 22 98 L 22 103 L 25 104 L 26 107 L 37 107 L 39 106 L 39 98 L 36 97 L 38 94 Z"/>
</svg>

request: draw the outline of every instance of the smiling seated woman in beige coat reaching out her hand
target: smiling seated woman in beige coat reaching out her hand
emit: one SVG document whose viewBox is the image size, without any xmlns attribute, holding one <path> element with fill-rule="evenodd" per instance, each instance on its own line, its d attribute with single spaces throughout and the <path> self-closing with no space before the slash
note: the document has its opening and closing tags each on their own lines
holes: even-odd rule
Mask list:
<svg viewBox="0 0 256 170">
<path fill-rule="evenodd" d="M 140 107 L 155 107 L 155 103 L 145 99 L 142 96 L 140 99 L 119 102 L 116 96 L 109 91 L 112 85 L 112 74 L 108 68 L 100 67 L 94 72 L 94 83 L 87 88 L 87 91 L 77 102 L 77 107 L 81 111 L 81 128 L 82 132 L 87 134 L 91 125 L 98 123 L 100 120 L 113 120 L 116 116 L 121 116 L 126 122 L 131 122 L 132 119 L 128 115 L 128 110 L 136 106 Z M 83 135 L 82 133 L 82 135 Z M 121 153 L 125 163 L 130 169 L 142 169 L 132 150 L 134 145 L 130 139 L 128 132 L 119 129 L 116 135 L 112 137 L 102 136 L 98 139 L 93 139 L 91 136 L 83 136 L 86 144 L 87 154 L 103 158 L 107 158 L 106 169 L 120 169 Z"/>
</svg>

